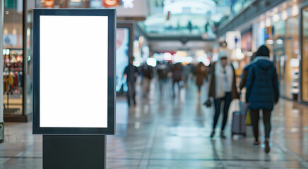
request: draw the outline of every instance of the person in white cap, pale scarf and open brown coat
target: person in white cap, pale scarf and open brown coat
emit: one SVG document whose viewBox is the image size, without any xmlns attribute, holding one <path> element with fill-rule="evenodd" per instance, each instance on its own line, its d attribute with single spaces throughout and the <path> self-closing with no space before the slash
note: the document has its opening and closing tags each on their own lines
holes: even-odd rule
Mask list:
<svg viewBox="0 0 308 169">
<path fill-rule="evenodd" d="M 220 107 L 222 101 L 223 106 L 223 124 L 221 127 L 220 137 L 225 139 L 225 125 L 227 123 L 227 115 L 232 99 L 239 99 L 237 87 L 235 84 L 235 68 L 227 60 L 227 53 L 220 51 L 218 61 L 211 68 L 211 82 L 208 90 L 208 98 L 213 97 L 215 105 L 215 115 L 213 120 L 213 130 L 211 137 L 215 135 L 215 127 L 218 123 L 220 115 Z"/>
</svg>

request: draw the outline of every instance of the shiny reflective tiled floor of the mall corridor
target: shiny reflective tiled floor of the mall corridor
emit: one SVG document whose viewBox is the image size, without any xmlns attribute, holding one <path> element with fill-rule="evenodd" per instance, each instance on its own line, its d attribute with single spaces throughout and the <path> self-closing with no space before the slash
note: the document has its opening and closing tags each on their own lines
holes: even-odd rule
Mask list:
<svg viewBox="0 0 308 169">
<path fill-rule="evenodd" d="M 149 98 L 139 97 L 136 107 L 118 99 L 117 134 L 107 137 L 107 168 L 308 168 L 308 106 L 280 100 L 272 116 L 271 153 L 265 154 L 263 145 L 251 145 L 250 128 L 246 138 L 231 139 L 231 118 L 227 139 L 218 137 L 219 128 L 210 139 L 213 111 L 202 105 L 205 91 L 196 96 L 194 82 L 175 99 L 170 89 L 160 96 L 153 84 Z M 32 135 L 31 123 L 5 127 L 0 168 L 42 168 L 42 136 Z"/>
</svg>

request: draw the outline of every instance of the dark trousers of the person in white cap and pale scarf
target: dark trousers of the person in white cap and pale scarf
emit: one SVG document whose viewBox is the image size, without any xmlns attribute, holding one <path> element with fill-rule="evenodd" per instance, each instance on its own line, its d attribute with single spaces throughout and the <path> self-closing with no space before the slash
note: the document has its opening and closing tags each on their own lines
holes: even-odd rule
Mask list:
<svg viewBox="0 0 308 169">
<path fill-rule="evenodd" d="M 215 104 L 215 115 L 214 115 L 214 123 L 213 123 L 213 129 L 215 129 L 217 123 L 218 123 L 218 118 L 220 115 L 220 107 L 221 107 L 221 102 L 225 101 L 225 104 L 223 106 L 223 124 L 221 127 L 221 130 L 225 130 L 225 124 L 227 124 L 227 113 L 229 111 L 229 107 L 232 101 L 232 96 L 231 92 L 226 92 L 225 96 L 220 99 L 214 99 L 214 104 Z"/>
</svg>

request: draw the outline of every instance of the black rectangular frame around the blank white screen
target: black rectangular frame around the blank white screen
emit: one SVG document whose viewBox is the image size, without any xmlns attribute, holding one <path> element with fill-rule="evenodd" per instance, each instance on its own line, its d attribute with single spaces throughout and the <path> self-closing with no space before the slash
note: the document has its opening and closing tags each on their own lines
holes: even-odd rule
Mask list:
<svg viewBox="0 0 308 169">
<path fill-rule="evenodd" d="M 108 17 L 107 127 L 40 127 L 40 15 L 81 15 Z M 115 9 L 33 9 L 33 134 L 115 134 L 116 24 L 117 16 Z"/>
</svg>

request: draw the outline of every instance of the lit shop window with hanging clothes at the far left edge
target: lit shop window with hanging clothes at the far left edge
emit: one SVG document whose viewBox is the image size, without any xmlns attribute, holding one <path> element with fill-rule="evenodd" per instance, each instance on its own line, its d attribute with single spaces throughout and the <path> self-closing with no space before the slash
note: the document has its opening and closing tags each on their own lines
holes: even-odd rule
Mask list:
<svg viewBox="0 0 308 169">
<path fill-rule="evenodd" d="M 23 1 L 4 1 L 4 115 L 23 113 Z"/>
</svg>

